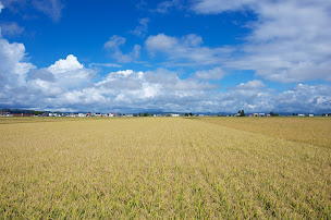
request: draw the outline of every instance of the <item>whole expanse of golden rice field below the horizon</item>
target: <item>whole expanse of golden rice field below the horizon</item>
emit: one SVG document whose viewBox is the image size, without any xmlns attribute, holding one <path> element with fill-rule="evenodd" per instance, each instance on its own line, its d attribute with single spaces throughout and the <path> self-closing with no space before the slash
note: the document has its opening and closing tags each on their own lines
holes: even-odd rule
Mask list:
<svg viewBox="0 0 331 220">
<path fill-rule="evenodd" d="M 1 219 L 331 219 L 330 119 L 0 119 Z"/>
</svg>

